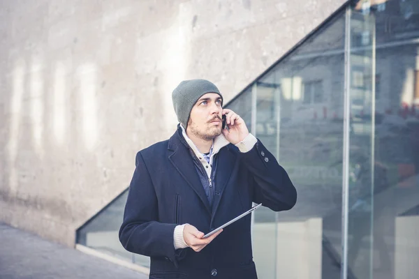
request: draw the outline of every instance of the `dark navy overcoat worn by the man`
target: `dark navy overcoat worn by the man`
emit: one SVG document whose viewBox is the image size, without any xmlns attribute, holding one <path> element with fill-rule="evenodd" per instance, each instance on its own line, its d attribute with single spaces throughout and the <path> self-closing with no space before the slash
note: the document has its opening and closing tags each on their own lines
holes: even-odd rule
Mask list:
<svg viewBox="0 0 419 279">
<path fill-rule="evenodd" d="M 126 250 L 151 257 L 150 278 L 257 278 L 251 215 L 226 227 L 200 252 L 173 246 L 176 225 L 189 223 L 207 233 L 252 202 L 273 211 L 296 202 L 288 174 L 259 140 L 247 153 L 228 144 L 216 156 L 210 206 L 180 128 L 170 140 L 137 153 L 119 239 Z"/>
</svg>

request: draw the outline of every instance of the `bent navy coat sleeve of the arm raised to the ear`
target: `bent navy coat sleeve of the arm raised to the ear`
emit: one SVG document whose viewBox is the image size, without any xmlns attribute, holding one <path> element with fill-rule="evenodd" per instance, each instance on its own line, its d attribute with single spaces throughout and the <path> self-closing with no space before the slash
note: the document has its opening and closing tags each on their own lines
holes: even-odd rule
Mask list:
<svg viewBox="0 0 419 279">
<path fill-rule="evenodd" d="M 262 203 L 273 211 L 293 208 L 297 202 L 297 190 L 285 169 L 260 140 L 249 152 L 239 156 L 254 181 L 253 202 Z"/>
</svg>

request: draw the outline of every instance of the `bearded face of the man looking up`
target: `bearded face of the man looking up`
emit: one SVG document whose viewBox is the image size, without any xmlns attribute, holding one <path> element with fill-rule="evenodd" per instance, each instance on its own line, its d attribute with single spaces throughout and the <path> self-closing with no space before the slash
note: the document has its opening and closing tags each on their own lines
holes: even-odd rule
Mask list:
<svg viewBox="0 0 419 279">
<path fill-rule="evenodd" d="M 186 130 L 203 140 L 213 140 L 221 135 L 223 108 L 221 96 L 206 93 L 191 110 Z"/>
</svg>

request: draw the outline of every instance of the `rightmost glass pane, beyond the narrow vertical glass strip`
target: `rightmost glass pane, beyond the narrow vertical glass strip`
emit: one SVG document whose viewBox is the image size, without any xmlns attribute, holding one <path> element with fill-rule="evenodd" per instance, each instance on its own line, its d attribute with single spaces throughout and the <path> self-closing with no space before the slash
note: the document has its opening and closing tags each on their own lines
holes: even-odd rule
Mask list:
<svg viewBox="0 0 419 279">
<path fill-rule="evenodd" d="M 419 273 L 419 1 L 395 0 L 363 11 L 376 21 L 376 87 L 370 232 L 365 278 L 416 278 Z M 360 10 L 359 13 L 362 13 Z M 368 15 L 367 15 L 368 14 Z M 360 176 L 360 175 L 359 175 Z M 362 179 L 361 179 L 362 180 Z M 369 188 L 369 187 L 367 187 Z M 367 198 L 369 199 L 369 198 Z M 362 266 L 354 262 L 355 266 Z M 360 268 L 360 267 L 359 267 Z"/>
</svg>

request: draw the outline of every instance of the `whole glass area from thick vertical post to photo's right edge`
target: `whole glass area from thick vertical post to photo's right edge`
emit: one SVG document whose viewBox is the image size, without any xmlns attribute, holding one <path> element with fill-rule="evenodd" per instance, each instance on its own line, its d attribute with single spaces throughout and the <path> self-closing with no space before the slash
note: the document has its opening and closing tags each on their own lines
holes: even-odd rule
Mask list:
<svg viewBox="0 0 419 279">
<path fill-rule="evenodd" d="M 351 18 L 359 39 L 350 61 L 358 73 L 351 72 L 348 264 L 356 278 L 417 278 L 419 1 L 361 2 Z"/>
</svg>

